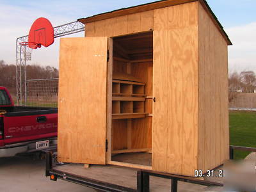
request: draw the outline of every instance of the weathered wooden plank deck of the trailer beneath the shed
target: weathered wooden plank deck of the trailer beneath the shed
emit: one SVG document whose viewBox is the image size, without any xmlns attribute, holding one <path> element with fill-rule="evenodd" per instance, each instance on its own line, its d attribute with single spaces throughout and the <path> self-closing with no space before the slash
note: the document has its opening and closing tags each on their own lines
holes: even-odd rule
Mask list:
<svg viewBox="0 0 256 192">
<path fill-rule="evenodd" d="M 83 164 L 70 163 L 54 169 L 126 188 L 136 189 L 137 187 L 137 172 L 133 168 L 114 165 L 90 165 L 90 168 L 83 168 Z M 170 191 L 170 186 L 171 180 L 150 176 L 150 191 Z M 179 191 L 184 192 L 204 191 L 205 188 L 207 187 L 186 182 L 179 182 L 178 186 Z"/>
</svg>

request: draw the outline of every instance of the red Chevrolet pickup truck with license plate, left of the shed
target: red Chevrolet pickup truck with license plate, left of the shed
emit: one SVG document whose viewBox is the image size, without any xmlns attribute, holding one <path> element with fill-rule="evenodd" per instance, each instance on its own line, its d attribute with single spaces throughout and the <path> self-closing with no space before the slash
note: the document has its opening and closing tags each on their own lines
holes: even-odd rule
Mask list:
<svg viewBox="0 0 256 192">
<path fill-rule="evenodd" d="M 14 106 L 0 86 L 0 157 L 56 147 L 57 124 L 58 109 Z"/>
</svg>

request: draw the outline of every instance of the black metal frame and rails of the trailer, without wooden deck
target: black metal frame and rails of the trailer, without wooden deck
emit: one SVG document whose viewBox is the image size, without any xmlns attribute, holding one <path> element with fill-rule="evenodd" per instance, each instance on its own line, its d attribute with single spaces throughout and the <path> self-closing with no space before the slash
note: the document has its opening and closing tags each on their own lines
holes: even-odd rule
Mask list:
<svg viewBox="0 0 256 192">
<path fill-rule="evenodd" d="M 68 164 L 68 163 L 63 163 Z M 62 166 L 63 164 L 57 164 L 56 166 Z M 52 164 L 52 151 L 46 152 L 46 168 L 45 176 L 50 177 L 51 180 L 56 181 L 57 179 L 67 180 L 68 182 L 73 182 L 76 184 L 81 184 L 89 188 L 97 189 L 100 191 L 149 191 L 150 186 L 150 176 L 161 177 L 164 179 L 171 179 L 172 186 L 171 191 L 178 191 L 178 181 L 190 182 L 193 184 L 198 184 L 202 186 L 223 186 L 222 183 L 212 182 L 209 180 L 200 180 L 193 177 L 186 177 L 181 175 L 173 175 L 169 173 L 159 173 L 151 170 L 137 170 L 137 189 L 126 188 L 124 186 L 110 184 L 108 182 L 102 182 L 100 180 L 90 179 L 88 177 L 82 177 L 80 175 L 74 175 L 68 172 L 62 172 L 60 170 L 54 169 Z"/>
</svg>

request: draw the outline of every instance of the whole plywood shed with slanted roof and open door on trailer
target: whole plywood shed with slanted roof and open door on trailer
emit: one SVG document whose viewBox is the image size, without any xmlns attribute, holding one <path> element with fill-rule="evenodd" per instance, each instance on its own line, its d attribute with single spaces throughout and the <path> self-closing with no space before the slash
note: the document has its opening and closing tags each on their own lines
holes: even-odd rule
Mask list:
<svg viewBox="0 0 256 192">
<path fill-rule="evenodd" d="M 61 38 L 58 160 L 193 176 L 228 159 L 228 51 L 205 1 L 79 19 Z"/>
</svg>

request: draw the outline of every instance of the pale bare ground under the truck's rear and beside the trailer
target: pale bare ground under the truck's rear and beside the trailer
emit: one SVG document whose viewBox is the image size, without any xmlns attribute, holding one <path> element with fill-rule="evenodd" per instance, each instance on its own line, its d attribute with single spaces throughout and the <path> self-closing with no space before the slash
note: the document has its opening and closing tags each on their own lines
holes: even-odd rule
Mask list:
<svg viewBox="0 0 256 192">
<path fill-rule="evenodd" d="M 0 191 L 95 191 L 64 180 L 56 182 L 45 177 L 45 160 L 29 157 L 0 158 Z"/>
</svg>

